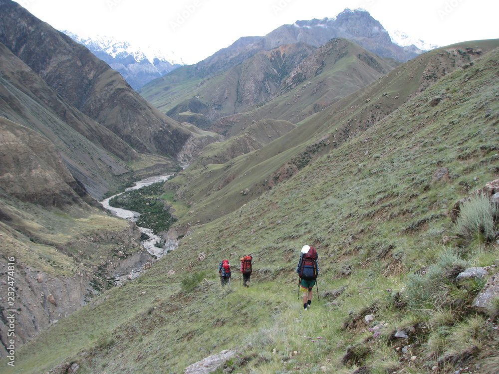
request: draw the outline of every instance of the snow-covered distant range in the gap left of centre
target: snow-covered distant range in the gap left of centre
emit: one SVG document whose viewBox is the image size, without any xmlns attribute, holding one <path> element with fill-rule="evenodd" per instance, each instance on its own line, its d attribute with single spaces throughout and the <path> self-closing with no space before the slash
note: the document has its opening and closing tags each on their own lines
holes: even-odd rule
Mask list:
<svg viewBox="0 0 499 374">
<path fill-rule="evenodd" d="M 62 30 L 74 41 L 86 46 L 111 68 L 120 72 L 127 83 L 137 90 L 146 83 L 185 65 L 172 53 L 134 47 L 127 41 L 108 36 L 82 36 L 69 30 Z"/>
</svg>

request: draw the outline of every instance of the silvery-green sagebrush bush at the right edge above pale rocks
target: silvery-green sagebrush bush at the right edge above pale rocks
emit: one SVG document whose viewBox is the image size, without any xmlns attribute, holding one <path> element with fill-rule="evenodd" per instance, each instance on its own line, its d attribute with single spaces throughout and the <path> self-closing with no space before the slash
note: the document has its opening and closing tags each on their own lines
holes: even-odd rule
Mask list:
<svg viewBox="0 0 499 374">
<path fill-rule="evenodd" d="M 456 231 L 468 243 L 491 242 L 496 238 L 495 216 L 497 204 L 492 204 L 483 194 L 472 195 L 470 200 L 461 206 Z"/>
</svg>

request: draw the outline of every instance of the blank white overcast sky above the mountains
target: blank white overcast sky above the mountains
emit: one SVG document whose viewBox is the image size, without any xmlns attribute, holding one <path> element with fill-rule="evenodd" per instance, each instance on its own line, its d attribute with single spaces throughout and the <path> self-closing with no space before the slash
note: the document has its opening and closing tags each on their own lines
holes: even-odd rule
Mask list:
<svg viewBox="0 0 499 374">
<path fill-rule="evenodd" d="M 54 28 L 107 35 L 196 63 L 241 36 L 364 8 L 387 29 L 445 46 L 499 38 L 497 0 L 16 0 Z"/>
</svg>

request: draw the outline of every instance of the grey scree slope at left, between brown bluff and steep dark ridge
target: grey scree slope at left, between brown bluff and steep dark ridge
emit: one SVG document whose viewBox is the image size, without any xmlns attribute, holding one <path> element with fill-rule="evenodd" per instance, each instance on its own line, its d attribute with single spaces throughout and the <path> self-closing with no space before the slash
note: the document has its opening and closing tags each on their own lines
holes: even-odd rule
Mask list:
<svg viewBox="0 0 499 374">
<path fill-rule="evenodd" d="M 117 176 L 140 159 L 116 134 L 65 103 L 1 43 L 0 98 L 0 115 L 50 139 L 73 178 L 95 198 L 121 185 Z"/>
</svg>

